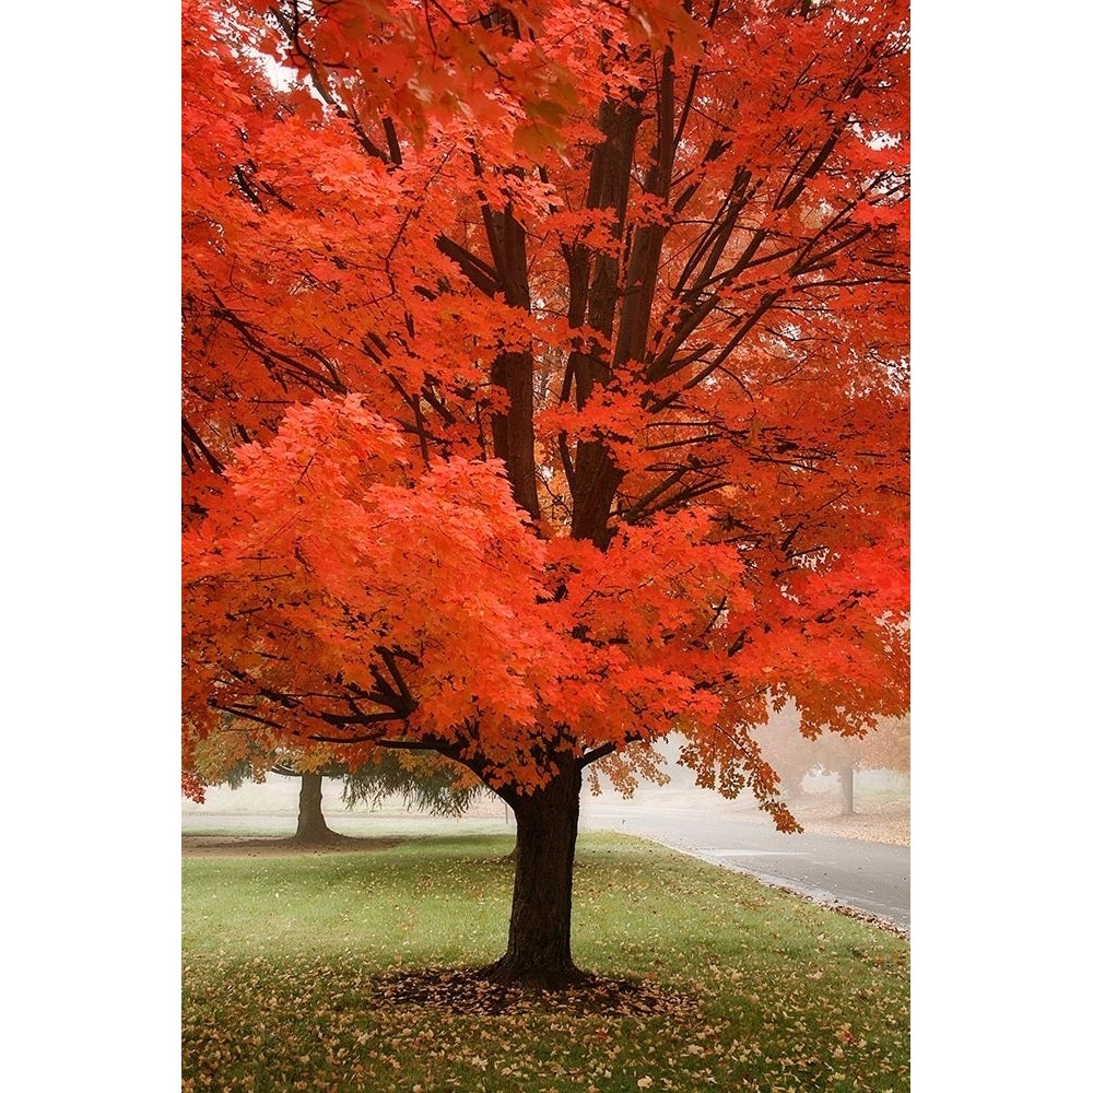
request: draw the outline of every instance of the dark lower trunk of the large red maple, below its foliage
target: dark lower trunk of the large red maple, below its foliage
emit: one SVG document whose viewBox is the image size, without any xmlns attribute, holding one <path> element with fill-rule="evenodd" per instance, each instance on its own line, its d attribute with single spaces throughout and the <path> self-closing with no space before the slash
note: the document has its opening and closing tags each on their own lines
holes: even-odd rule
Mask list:
<svg viewBox="0 0 1093 1093">
<path fill-rule="evenodd" d="M 496 983 L 555 988 L 585 978 L 569 950 L 580 767 L 572 757 L 560 762 L 562 769 L 545 787 L 509 800 L 516 878 L 508 951 L 484 973 Z"/>
</svg>

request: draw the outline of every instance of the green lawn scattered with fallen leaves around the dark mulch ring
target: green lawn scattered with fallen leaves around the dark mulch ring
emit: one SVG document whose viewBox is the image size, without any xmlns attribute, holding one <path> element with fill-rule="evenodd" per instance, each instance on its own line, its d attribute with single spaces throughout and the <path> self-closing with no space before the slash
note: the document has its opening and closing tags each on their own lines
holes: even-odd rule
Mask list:
<svg viewBox="0 0 1093 1093">
<path fill-rule="evenodd" d="M 574 957 L 655 1012 L 540 996 L 498 1014 L 392 1004 L 392 969 L 505 948 L 512 837 L 183 862 L 184 1089 L 906 1091 L 908 947 L 741 874 L 583 835 Z"/>
</svg>

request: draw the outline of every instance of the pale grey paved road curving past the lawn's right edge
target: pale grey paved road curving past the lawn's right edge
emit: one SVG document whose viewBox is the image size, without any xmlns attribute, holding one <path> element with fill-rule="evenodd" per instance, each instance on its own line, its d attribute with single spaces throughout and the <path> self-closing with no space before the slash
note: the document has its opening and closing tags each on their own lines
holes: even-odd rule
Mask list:
<svg viewBox="0 0 1093 1093">
<path fill-rule="evenodd" d="M 773 823 L 700 809 L 655 811 L 581 801 L 581 827 L 642 835 L 727 869 L 846 904 L 910 931 L 910 850 L 827 835 L 784 835 Z"/>
</svg>

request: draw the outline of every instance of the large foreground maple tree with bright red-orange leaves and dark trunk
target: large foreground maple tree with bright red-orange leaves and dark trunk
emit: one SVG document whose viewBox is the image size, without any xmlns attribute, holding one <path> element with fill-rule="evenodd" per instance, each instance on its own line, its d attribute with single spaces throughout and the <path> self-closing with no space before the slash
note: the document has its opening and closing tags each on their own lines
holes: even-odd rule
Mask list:
<svg viewBox="0 0 1093 1093">
<path fill-rule="evenodd" d="M 184 749 L 433 750 L 571 953 L 583 772 L 907 706 L 905 3 L 184 3 Z"/>
</svg>

